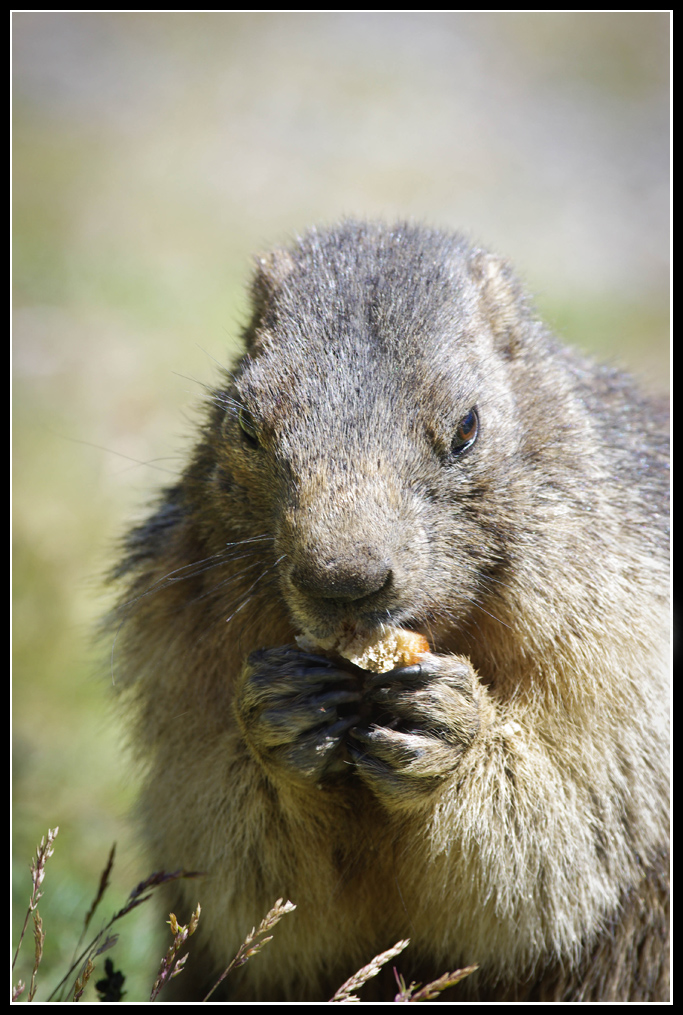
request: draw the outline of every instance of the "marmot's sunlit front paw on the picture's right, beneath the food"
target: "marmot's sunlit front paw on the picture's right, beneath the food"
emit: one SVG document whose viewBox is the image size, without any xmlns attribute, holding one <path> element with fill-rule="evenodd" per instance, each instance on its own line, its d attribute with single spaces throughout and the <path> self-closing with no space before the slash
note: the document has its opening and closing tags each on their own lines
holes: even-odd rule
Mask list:
<svg viewBox="0 0 683 1015">
<path fill-rule="evenodd" d="M 460 656 L 425 653 L 419 664 L 372 676 L 364 694 L 371 721 L 348 738 L 362 781 L 395 803 L 437 789 L 479 731 L 477 689 Z"/>
</svg>

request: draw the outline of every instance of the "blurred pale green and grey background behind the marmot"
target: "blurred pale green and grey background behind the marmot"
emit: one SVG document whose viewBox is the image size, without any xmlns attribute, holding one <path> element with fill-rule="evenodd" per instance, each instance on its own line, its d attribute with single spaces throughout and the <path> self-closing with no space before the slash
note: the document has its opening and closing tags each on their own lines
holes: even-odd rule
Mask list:
<svg viewBox="0 0 683 1015">
<path fill-rule="evenodd" d="M 19 923 L 36 843 L 60 826 L 41 1000 L 111 843 L 105 913 L 149 873 L 109 650 L 90 642 L 116 540 L 176 473 L 202 384 L 234 352 L 250 256 L 342 215 L 462 228 L 510 258 L 569 341 L 665 391 L 669 14 L 12 22 Z M 127 1000 L 148 996 L 165 947 L 152 924 L 122 927 Z"/>
</svg>

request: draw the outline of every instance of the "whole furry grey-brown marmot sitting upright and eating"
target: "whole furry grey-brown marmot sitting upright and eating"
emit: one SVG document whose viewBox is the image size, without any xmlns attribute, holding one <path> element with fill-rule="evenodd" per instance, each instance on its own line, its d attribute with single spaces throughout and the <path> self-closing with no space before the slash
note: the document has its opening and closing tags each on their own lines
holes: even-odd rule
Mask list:
<svg viewBox="0 0 683 1015">
<path fill-rule="evenodd" d="M 313 229 L 252 299 L 117 571 L 207 986 L 284 897 L 231 997 L 326 1000 L 410 938 L 406 976 L 478 964 L 461 998 L 667 998 L 666 411 L 458 234 Z M 429 651 L 389 672 L 317 648 L 397 628 Z"/>
</svg>

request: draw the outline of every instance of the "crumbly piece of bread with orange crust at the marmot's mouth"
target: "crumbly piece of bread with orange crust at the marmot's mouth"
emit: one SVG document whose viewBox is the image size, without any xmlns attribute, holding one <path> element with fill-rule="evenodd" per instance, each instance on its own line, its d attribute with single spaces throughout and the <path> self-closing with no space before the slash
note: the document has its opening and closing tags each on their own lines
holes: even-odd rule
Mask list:
<svg viewBox="0 0 683 1015">
<path fill-rule="evenodd" d="M 371 673 L 388 673 L 397 666 L 410 666 L 429 652 L 429 642 L 422 634 L 401 627 L 371 632 L 354 628 L 336 637 L 322 639 L 304 632 L 297 636 L 296 644 L 306 652 L 341 656 Z"/>
</svg>

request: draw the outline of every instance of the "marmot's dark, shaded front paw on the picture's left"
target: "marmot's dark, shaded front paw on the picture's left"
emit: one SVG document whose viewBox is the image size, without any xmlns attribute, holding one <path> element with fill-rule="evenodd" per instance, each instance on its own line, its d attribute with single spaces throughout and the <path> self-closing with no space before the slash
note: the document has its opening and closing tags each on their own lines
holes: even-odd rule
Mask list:
<svg viewBox="0 0 683 1015">
<path fill-rule="evenodd" d="M 319 782 L 349 770 L 344 739 L 359 704 L 357 677 L 283 646 L 251 654 L 235 709 L 248 744 L 273 775 Z"/>
</svg>

